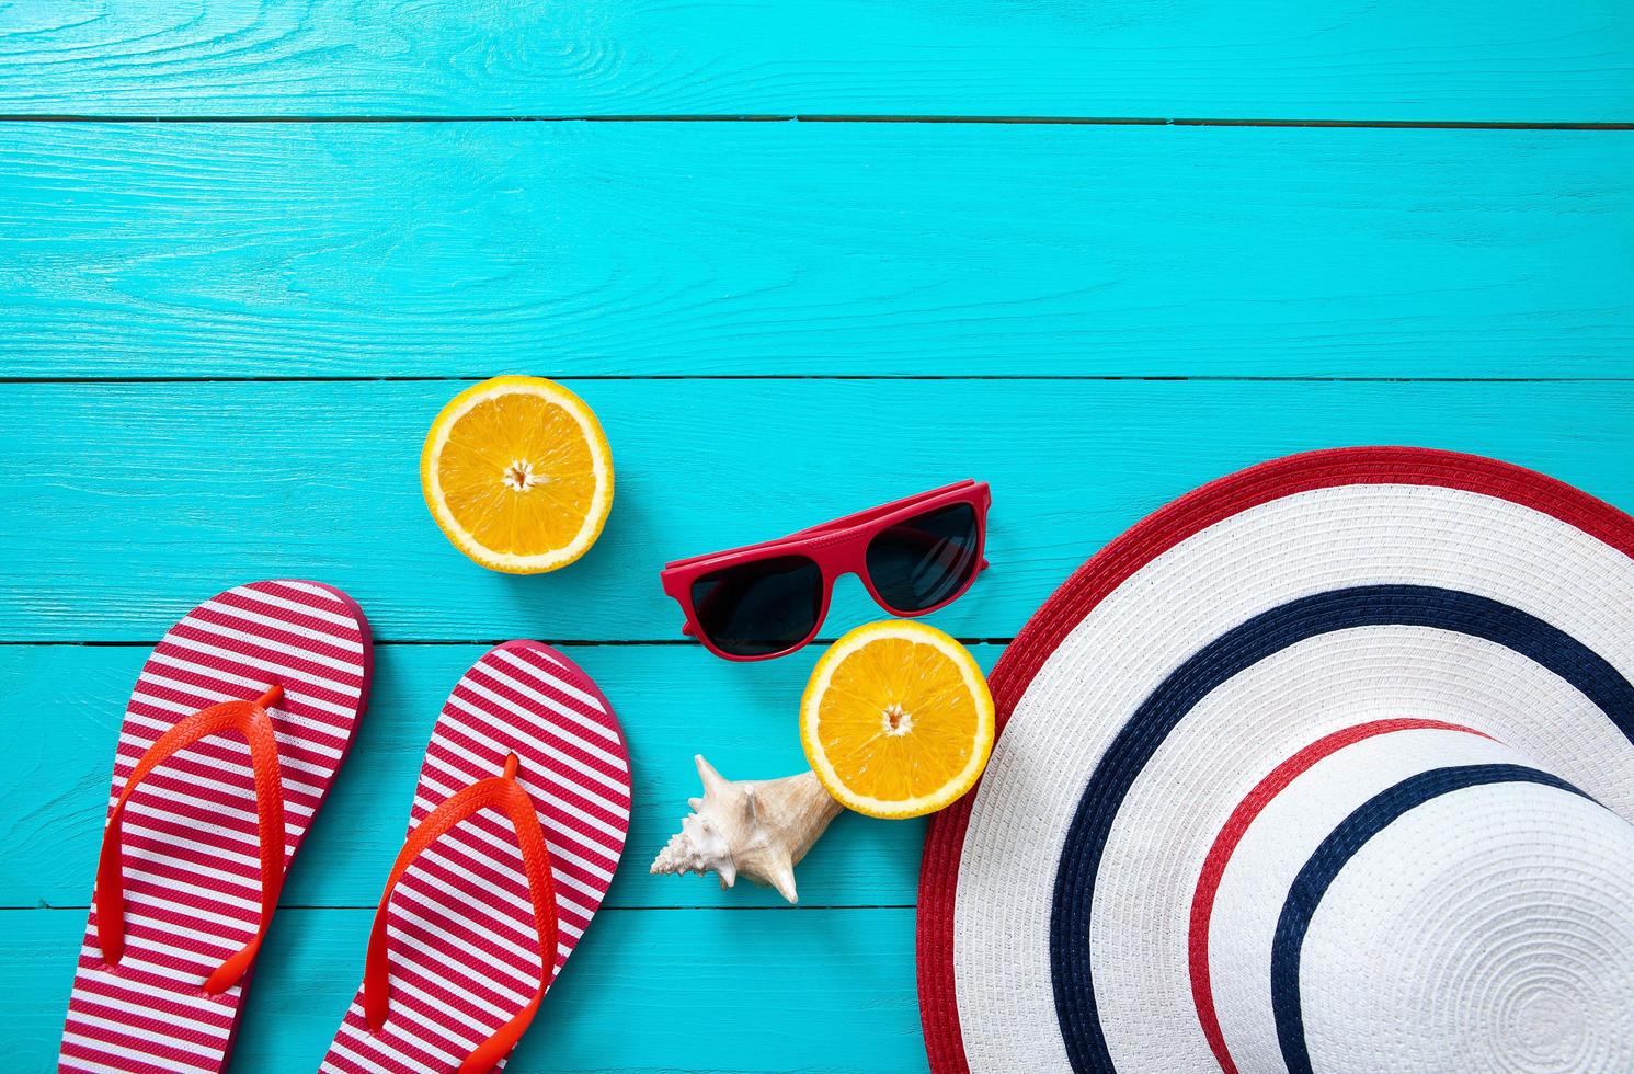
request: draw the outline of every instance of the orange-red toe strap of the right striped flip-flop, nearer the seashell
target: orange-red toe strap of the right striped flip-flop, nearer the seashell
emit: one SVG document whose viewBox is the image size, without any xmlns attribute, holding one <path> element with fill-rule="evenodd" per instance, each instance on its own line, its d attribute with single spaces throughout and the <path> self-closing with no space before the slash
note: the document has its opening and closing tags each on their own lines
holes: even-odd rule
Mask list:
<svg viewBox="0 0 1634 1074">
<path fill-rule="evenodd" d="M 544 999 L 544 989 L 549 987 L 551 974 L 556 969 L 556 886 L 551 881 L 551 852 L 544 845 L 544 829 L 539 827 L 539 814 L 534 812 L 533 799 L 516 783 L 516 754 L 510 754 L 505 759 L 503 775 L 479 780 L 456 791 L 410 832 L 397 855 L 397 863 L 392 865 L 386 891 L 381 894 L 381 906 L 374 911 L 369 953 L 363 964 L 363 1014 L 369 1028 L 379 1033 L 386 1027 L 391 1000 L 391 974 L 386 961 L 386 907 L 392 901 L 397 881 L 408 871 L 420 852 L 466 817 L 489 808 L 503 812 L 516 830 L 516 847 L 521 850 L 523 870 L 528 875 L 528 897 L 533 902 L 534 924 L 539 927 L 539 991 L 533 994 L 526 1007 L 516 1012 L 516 1017 L 466 1056 L 466 1061 L 459 1064 L 459 1074 L 484 1074 L 510 1054 L 510 1049 L 528 1030 L 528 1023 L 533 1022 L 534 1012 L 539 1010 L 539 1000 Z"/>
</svg>

